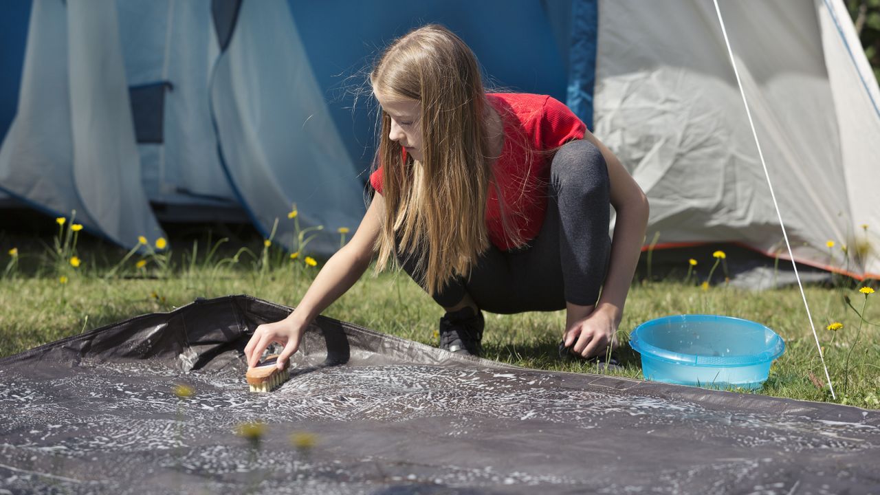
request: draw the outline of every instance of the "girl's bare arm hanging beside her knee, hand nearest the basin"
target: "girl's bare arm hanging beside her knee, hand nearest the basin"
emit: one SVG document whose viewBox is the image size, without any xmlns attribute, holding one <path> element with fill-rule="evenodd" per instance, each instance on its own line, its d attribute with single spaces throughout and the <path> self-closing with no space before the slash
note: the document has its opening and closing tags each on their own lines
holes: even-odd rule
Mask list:
<svg viewBox="0 0 880 495">
<path fill-rule="evenodd" d="M 629 285 L 639 262 L 648 226 L 648 197 L 614 156 L 590 131 L 584 139 L 595 144 L 608 166 L 611 204 L 617 212 L 611 244 L 611 261 L 605 284 L 595 307 L 568 303 L 565 346 L 584 358 L 595 356 L 614 345 L 614 335 L 623 316 Z"/>
</svg>

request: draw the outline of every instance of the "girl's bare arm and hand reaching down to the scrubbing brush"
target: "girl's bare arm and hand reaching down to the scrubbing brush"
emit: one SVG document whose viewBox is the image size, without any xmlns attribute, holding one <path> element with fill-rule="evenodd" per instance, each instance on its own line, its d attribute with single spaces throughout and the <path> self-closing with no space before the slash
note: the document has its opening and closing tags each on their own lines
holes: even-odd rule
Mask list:
<svg viewBox="0 0 880 495">
<path fill-rule="evenodd" d="M 385 198 L 376 193 L 354 237 L 327 260 L 293 313 L 282 321 L 266 323 L 254 330 L 245 347 L 249 368 L 257 365 L 263 351 L 273 342 L 284 346 L 284 351 L 278 358 L 278 367 L 284 366 L 287 359 L 297 351 L 309 323 L 348 291 L 370 266 L 373 247 L 384 217 Z"/>
</svg>

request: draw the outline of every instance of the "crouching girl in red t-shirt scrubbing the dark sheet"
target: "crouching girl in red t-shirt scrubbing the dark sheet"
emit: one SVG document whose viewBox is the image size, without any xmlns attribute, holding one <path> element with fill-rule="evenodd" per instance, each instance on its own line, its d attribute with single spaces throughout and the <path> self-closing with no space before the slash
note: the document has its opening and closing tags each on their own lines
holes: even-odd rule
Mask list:
<svg viewBox="0 0 880 495">
<path fill-rule="evenodd" d="M 284 366 L 376 252 L 377 271 L 395 257 L 444 307 L 443 349 L 480 354 L 482 309 L 562 308 L 569 351 L 590 358 L 613 347 L 648 222 L 647 198 L 620 160 L 557 100 L 485 93 L 473 52 L 443 26 L 394 41 L 370 85 L 382 107 L 376 194 L 296 310 L 254 331 L 248 365 L 277 342 Z"/>
</svg>

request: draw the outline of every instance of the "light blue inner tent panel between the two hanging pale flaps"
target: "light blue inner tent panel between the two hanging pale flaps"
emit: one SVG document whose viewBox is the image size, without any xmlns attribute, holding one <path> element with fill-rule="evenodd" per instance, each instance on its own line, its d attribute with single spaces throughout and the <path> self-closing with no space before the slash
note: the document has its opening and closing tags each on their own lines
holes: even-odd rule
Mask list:
<svg viewBox="0 0 880 495">
<path fill-rule="evenodd" d="M 120 0 L 116 6 L 128 85 L 170 85 L 162 101 L 162 142 L 138 146 L 150 202 L 238 207 L 206 97 L 221 34 L 212 24 L 210 0 Z M 229 23 L 231 13 L 223 17 Z"/>
</svg>

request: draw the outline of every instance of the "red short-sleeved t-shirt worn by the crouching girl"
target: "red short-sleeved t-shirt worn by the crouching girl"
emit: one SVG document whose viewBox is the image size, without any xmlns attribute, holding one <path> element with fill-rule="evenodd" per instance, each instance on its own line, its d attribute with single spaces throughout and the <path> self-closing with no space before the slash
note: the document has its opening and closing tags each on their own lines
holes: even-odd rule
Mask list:
<svg viewBox="0 0 880 495">
<path fill-rule="evenodd" d="M 488 102 L 504 122 L 504 147 L 493 173 L 498 187 L 491 185 L 486 203 L 486 226 L 495 247 L 510 250 L 513 243 L 504 233 L 498 202 L 500 189 L 508 213 L 509 227 L 524 240 L 538 235 L 547 207 L 553 150 L 574 139 L 582 139 L 586 126 L 559 100 L 528 93 L 488 93 Z M 382 167 L 370 175 L 370 184 L 382 194 Z"/>
</svg>

